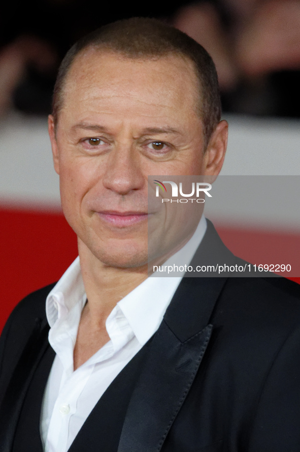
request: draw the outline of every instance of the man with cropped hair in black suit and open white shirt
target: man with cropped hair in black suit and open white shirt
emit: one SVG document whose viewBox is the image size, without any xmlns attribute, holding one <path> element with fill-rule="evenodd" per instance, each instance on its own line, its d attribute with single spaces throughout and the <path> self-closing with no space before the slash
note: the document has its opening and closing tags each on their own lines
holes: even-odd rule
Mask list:
<svg viewBox="0 0 300 452">
<path fill-rule="evenodd" d="M 147 176 L 224 159 L 206 51 L 152 19 L 103 27 L 66 55 L 49 134 L 79 259 L 5 327 L 1 452 L 300 450 L 298 286 L 148 277 Z M 203 217 L 182 235 L 165 212 L 154 261 L 237 262 Z"/>
</svg>

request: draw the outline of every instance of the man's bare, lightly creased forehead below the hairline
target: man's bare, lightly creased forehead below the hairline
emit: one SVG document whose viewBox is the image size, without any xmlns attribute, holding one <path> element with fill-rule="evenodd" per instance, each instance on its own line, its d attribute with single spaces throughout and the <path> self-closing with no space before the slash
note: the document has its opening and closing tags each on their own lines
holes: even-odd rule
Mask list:
<svg viewBox="0 0 300 452">
<path fill-rule="evenodd" d="M 195 114 L 199 83 L 193 63 L 178 55 L 129 58 L 119 53 L 88 48 L 73 62 L 63 89 L 63 108 L 116 102 L 120 108 L 173 109 Z M 130 104 L 130 105 L 129 105 Z"/>
</svg>

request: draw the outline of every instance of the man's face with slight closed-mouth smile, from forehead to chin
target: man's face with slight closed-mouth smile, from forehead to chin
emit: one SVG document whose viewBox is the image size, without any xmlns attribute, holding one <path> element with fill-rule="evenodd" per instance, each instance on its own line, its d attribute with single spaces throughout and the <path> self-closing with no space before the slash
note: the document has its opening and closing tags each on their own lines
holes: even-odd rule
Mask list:
<svg viewBox="0 0 300 452">
<path fill-rule="evenodd" d="M 51 116 L 49 133 L 79 250 L 109 266 L 147 263 L 147 220 L 155 217 L 148 213 L 147 176 L 216 173 L 215 150 L 204 153 L 198 101 L 192 64 L 181 57 L 135 60 L 93 49 L 77 56 L 56 136 Z M 175 215 L 165 219 L 174 232 Z M 170 253 L 171 238 L 159 246 Z"/>
</svg>

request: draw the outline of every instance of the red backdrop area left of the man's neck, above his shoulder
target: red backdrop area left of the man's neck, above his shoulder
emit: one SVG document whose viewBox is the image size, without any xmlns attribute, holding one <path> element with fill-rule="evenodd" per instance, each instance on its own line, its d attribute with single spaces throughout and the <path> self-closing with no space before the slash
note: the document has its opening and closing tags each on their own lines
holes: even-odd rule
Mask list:
<svg viewBox="0 0 300 452">
<path fill-rule="evenodd" d="M 25 295 L 57 281 L 77 256 L 76 235 L 62 214 L 0 209 L 3 328 Z"/>
</svg>

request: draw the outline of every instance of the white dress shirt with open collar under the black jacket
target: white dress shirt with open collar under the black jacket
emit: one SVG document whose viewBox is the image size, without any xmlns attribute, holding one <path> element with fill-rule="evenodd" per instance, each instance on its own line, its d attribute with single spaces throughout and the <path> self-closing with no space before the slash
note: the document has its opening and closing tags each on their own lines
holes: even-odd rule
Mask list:
<svg viewBox="0 0 300 452">
<path fill-rule="evenodd" d="M 205 231 L 206 220 L 202 217 L 189 242 L 172 256 L 172 262 L 189 263 Z M 183 274 L 173 278 L 155 276 L 117 303 L 106 320 L 110 341 L 76 371 L 73 352 L 86 303 L 79 257 L 49 293 L 49 342 L 56 356 L 41 412 L 40 430 L 46 452 L 69 449 L 105 390 L 158 329 Z"/>
</svg>

